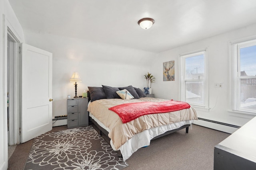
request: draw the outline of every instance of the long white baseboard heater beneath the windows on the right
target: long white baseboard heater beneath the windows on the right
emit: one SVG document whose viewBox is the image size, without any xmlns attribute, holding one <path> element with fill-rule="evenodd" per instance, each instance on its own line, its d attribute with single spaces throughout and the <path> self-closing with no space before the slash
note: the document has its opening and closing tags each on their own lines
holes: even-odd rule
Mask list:
<svg viewBox="0 0 256 170">
<path fill-rule="evenodd" d="M 193 124 L 208 127 L 210 129 L 215 129 L 215 130 L 226 132 L 226 133 L 234 133 L 238 129 L 236 127 L 230 127 L 228 125 L 221 125 L 218 123 L 213 123 L 213 122 L 204 121 L 204 120 L 195 120 Z"/>
</svg>

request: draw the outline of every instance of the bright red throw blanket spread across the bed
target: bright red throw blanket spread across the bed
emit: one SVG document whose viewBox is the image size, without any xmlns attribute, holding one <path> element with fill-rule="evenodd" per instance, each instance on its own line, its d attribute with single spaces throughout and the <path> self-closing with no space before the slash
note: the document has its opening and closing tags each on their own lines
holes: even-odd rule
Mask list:
<svg viewBox="0 0 256 170">
<path fill-rule="evenodd" d="M 186 102 L 168 100 L 165 102 L 126 103 L 110 107 L 109 109 L 116 112 L 122 119 L 123 123 L 127 123 L 142 115 L 166 113 L 188 108 L 190 108 L 190 105 Z"/>
</svg>

